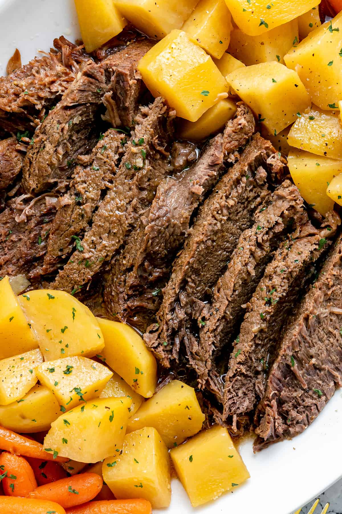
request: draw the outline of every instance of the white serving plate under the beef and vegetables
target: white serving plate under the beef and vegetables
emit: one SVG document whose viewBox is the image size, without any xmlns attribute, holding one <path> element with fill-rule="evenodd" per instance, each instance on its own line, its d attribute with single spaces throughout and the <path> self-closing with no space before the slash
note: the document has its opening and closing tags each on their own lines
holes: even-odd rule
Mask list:
<svg viewBox="0 0 342 514">
<path fill-rule="evenodd" d="M 73 0 L 0 0 L 0 76 L 15 47 L 26 63 L 48 50 L 59 35 L 79 37 Z M 165 514 L 290 514 L 342 476 L 342 394 L 337 391 L 303 434 L 253 455 L 247 440 L 240 451 L 251 474 L 243 486 L 193 509 L 177 480 Z"/>
</svg>

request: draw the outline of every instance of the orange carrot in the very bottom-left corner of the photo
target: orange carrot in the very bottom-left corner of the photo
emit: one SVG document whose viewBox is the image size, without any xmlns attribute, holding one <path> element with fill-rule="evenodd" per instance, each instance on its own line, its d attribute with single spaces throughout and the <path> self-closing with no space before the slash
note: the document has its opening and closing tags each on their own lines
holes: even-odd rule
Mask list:
<svg viewBox="0 0 342 514">
<path fill-rule="evenodd" d="M 26 498 L 0 498 L 1 514 L 65 514 L 61 505 L 55 502 L 27 500 Z"/>
</svg>

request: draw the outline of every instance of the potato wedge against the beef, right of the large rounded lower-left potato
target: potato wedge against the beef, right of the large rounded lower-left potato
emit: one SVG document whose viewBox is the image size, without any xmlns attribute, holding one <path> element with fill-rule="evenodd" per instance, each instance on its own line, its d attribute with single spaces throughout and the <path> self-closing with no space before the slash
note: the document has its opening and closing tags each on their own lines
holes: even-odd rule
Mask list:
<svg viewBox="0 0 342 514">
<path fill-rule="evenodd" d="M 125 323 L 97 318 L 105 339 L 103 359 L 129 386 L 149 398 L 157 385 L 157 363 L 143 339 Z"/>
</svg>

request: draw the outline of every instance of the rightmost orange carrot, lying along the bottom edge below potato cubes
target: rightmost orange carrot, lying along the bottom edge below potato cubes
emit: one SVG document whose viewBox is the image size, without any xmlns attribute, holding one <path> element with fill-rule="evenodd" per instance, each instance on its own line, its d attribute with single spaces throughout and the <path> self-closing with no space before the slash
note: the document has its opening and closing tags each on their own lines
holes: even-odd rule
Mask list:
<svg viewBox="0 0 342 514">
<path fill-rule="evenodd" d="M 112 500 L 109 502 L 88 502 L 67 514 L 152 514 L 152 507 L 147 500 Z"/>
</svg>

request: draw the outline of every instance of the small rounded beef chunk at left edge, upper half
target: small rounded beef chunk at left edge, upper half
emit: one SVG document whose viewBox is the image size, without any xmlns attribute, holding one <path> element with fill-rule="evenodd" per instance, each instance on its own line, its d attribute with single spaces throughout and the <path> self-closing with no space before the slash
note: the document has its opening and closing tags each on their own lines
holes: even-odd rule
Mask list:
<svg viewBox="0 0 342 514">
<path fill-rule="evenodd" d="M 17 139 L 0 141 L 0 191 L 7 189 L 22 171 L 24 154 L 16 150 Z"/>
</svg>

